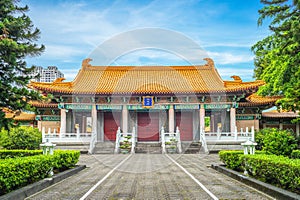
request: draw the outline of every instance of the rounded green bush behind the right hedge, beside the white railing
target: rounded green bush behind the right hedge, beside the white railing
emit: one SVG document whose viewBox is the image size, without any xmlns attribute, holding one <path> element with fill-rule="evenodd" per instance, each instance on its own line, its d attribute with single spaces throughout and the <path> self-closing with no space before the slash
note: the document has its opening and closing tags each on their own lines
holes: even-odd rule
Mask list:
<svg viewBox="0 0 300 200">
<path fill-rule="evenodd" d="M 267 154 L 290 156 L 297 148 L 297 140 L 293 132 L 276 128 L 260 130 L 256 135 L 256 142 L 258 143 L 257 149 Z"/>
</svg>

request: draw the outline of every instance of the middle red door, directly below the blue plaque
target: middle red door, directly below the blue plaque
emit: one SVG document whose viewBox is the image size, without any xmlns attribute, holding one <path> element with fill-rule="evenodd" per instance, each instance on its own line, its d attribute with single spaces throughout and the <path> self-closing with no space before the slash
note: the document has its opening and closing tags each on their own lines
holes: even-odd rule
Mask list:
<svg viewBox="0 0 300 200">
<path fill-rule="evenodd" d="M 138 141 L 159 140 L 159 115 L 154 112 L 138 113 Z"/>
</svg>

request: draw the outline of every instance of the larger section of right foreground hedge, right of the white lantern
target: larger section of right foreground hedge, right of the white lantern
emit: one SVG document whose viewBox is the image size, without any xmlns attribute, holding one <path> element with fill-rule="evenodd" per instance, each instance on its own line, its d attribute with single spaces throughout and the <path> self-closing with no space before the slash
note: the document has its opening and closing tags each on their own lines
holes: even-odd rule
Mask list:
<svg viewBox="0 0 300 200">
<path fill-rule="evenodd" d="M 276 155 L 243 155 L 242 165 L 249 175 L 292 192 L 300 192 L 300 159 Z"/>
</svg>

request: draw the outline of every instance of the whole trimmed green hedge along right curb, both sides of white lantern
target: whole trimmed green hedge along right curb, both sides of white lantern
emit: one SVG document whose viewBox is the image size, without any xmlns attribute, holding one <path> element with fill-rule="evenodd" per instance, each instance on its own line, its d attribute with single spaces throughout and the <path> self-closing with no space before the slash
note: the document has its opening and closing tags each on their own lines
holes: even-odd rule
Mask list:
<svg viewBox="0 0 300 200">
<path fill-rule="evenodd" d="M 243 151 L 220 151 L 220 160 L 227 168 L 244 171 L 250 176 L 280 188 L 300 193 L 300 159 L 284 156 L 267 155 L 263 151 L 255 151 L 255 155 L 244 155 Z M 292 155 L 299 158 L 299 150 Z"/>
</svg>

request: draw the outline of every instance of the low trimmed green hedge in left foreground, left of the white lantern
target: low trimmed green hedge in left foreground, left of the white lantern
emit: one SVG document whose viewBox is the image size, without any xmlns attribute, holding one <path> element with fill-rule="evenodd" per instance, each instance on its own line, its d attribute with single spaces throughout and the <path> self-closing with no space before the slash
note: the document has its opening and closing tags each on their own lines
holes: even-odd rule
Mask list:
<svg viewBox="0 0 300 200">
<path fill-rule="evenodd" d="M 0 195 L 48 176 L 52 156 L 30 156 L 0 160 Z"/>
</svg>

